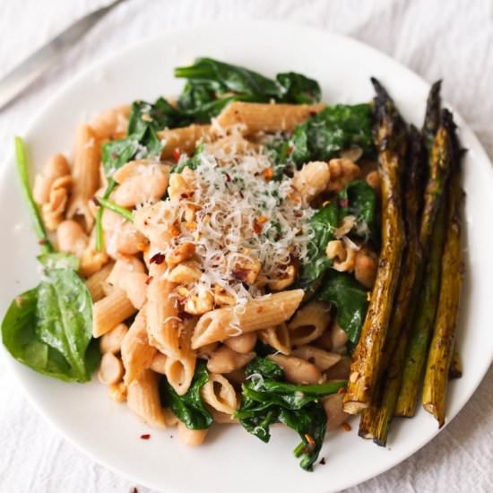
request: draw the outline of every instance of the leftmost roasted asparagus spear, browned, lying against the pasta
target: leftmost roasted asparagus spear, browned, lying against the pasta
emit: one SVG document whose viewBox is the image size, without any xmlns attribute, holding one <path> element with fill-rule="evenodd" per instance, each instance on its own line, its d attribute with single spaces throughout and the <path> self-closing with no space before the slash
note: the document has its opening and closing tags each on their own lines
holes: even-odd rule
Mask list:
<svg viewBox="0 0 493 493">
<path fill-rule="evenodd" d="M 371 81 L 376 90 L 374 138 L 382 183 L 382 249 L 367 317 L 352 355 L 350 378 L 344 395 L 344 411 L 351 414 L 366 409 L 375 391 L 405 244 L 400 180 L 406 150 L 406 126 L 384 87 L 376 79 Z"/>
</svg>

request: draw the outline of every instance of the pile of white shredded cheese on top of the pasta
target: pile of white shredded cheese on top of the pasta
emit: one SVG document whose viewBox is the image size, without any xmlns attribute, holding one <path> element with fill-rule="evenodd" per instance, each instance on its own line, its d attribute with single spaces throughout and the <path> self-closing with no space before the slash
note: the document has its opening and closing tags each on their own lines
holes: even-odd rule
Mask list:
<svg viewBox="0 0 493 493">
<path fill-rule="evenodd" d="M 240 154 L 233 145 L 212 154 L 205 146 L 196 159 L 193 195 L 162 203 L 161 217 L 179 229 L 163 253 L 194 243 L 203 273 L 191 294 L 219 288 L 241 305 L 262 296 L 265 281 L 282 278 L 293 258 L 307 256 L 313 238 L 307 220 L 314 210 L 300 200 L 290 177 L 272 180 L 272 161 L 265 151 Z M 185 169 L 182 176 L 190 175 Z M 196 211 L 193 229 L 186 227 L 186 207 Z M 247 285 L 238 277 L 238 264 L 256 261 L 261 270 L 256 282 Z"/>
</svg>

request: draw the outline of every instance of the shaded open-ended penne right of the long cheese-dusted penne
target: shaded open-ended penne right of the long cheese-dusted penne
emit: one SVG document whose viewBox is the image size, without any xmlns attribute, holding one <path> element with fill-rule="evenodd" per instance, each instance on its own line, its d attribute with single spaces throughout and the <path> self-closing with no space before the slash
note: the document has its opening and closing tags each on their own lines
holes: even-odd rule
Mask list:
<svg viewBox="0 0 493 493">
<path fill-rule="evenodd" d="M 323 301 L 312 301 L 298 310 L 288 324 L 293 346 L 315 341 L 330 324 L 330 306 Z"/>
</svg>

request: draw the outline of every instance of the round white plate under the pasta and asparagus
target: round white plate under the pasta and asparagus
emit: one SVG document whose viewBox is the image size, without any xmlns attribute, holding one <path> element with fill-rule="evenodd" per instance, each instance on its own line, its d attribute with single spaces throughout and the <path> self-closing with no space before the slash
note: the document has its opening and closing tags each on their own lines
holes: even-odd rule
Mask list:
<svg viewBox="0 0 493 493">
<path fill-rule="evenodd" d="M 263 74 L 295 70 L 316 78 L 327 102 L 359 102 L 372 97 L 370 75 L 394 96 L 404 117 L 420 124 L 428 84 L 392 59 L 358 42 L 306 27 L 272 22 L 231 22 L 161 35 L 125 49 L 117 56 L 77 76 L 39 112 L 24 134 L 32 162 L 39 167 L 56 151 L 68 151 L 75 125 L 84 115 L 128 102 L 175 94 L 183 82 L 173 68 L 213 56 L 245 65 Z M 446 83 L 447 74 L 443 74 Z M 450 422 L 471 397 L 489 368 L 493 355 L 490 305 L 493 299 L 490 254 L 493 174 L 476 137 L 460 122 L 464 162 L 466 237 L 468 255 L 459 329 L 464 375 L 450 385 L 447 420 Z M 39 274 L 38 248 L 22 202 L 13 159 L 0 176 L 0 313 L 22 290 L 34 286 Z M 99 463 L 125 476 L 167 492 L 214 491 L 251 493 L 327 493 L 368 480 L 400 463 L 437 434 L 437 424 L 420 410 L 411 420 L 394 421 L 388 448 L 381 448 L 353 432 L 331 433 L 321 457 L 327 463 L 308 473 L 291 455 L 298 444 L 295 433 L 273 430 L 271 443 L 239 427 L 216 427 L 205 445 L 188 449 L 175 431 L 146 428 L 125 405 L 109 400 L 97 381 L 67 385 L 23 368 L 12 359 L 13 372 L 38 410 L 69 440 Z M 151 440 L 139 439 L 151 433 Z"/>
</svg>

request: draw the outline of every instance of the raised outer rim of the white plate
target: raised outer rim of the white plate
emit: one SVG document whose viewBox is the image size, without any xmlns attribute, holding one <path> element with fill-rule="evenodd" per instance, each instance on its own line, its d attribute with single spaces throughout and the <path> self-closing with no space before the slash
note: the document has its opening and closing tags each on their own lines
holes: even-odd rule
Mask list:
<svg viewBox="0 0 493 493">
<path fill-rule="evenodd" d="M 282 28 L 296 28 L 300 30 L 310 30 L 314 33 L 318 34 L 323 34 L 324 36 L 329 36 L 332 37 L 333 39 L 339 39 L 342 40 L 343 43 L 350 43 L 354 47 L 366 50 L 367 52 L 371 52 L 373 55 L 383 57 L 386 59 L 387 62 L 391 62 L 393 65 L 398 65 L 400 70 L 405 71 L 406 74 L 414 79 L 414 82 L 419 82 L 421 84 L 424 84 L 428 89 L 431 86 L 429 82 L 427 82 L 423 77 L 421 77 L 419 74 L 416 74 L 414 71 L 411 70 L 406 65 L 403 65 L 401 62 L 397 61 L 394 59 L 393 56 L 387 55 L 385 52 L 380 51 L 377 48 L 374 48 L 373 46 L 360 41 L 359 39 L 352 38 L 351 36 L 344 35 L 338 32 L 335 32 L 333 30 L 329 29 L 324 29 L 324 28 L 319 28 L 316 26 L 312 25 L 307 25 L 301 22 L 294 22 L 291 20 L 287 21 L 280 21 L 280 20 L 255 20 L 252 18 L 241 20 L 241 21 L 236 21 L 235 25 L 238 27 L 238 30 L 243 30 L 245 28 L 255 28 L 255 26 L 258 25 L 263 25 L 264 27 L 271 27 L 272 29 L 282 29 Z M 134 50 L 135 48 L 139 48 L 141 46 L 145 46 L 148 43 L 151 43 L 157 39 L 167 39 L 171 38 L 174 36 L 177 36 L 179 33 L 185 33 L 186 30 L 200 30 L 204 28 L 214 28 L 214 29 L 220 29 L 221 27 L 230 27 L 230 22 L 228 21 L 217 21 L 217 22 L 198 22 L 196 24 L 190 25 L 190 26 L 184 26 L 181 28 L 174 28 L 174 29 L 169 29 L 169 30 L 160 30 L 158 32 L 153 33 L 151 36 L 148 36 L 144 39 L 139 39 L 137 41 L 128 43 L 125 45 L 123 48 L 117 49 L 117 51 L 110 52 L 106 54 L 105 56 L 100 57 L 99 59 L 94 60 L 87 66 L 83 67 L 80 69 L 76 74 L 72 75 L 67 81 L 65 81 L 59 88 L 57 88 L 55 91 L 53 91 L 49 98 L 47 98 L 41 105 L 39 105 L 39 108 L 33 113 L 33 116 L 30 117 L 29 119 L 26 119 L 26 122 L 22 125 L 22 135 L 25 136 L 26 140 L 29 140 L 29 134 L 35 129 L 35 127 L 38 125 L 39 120 L 43 117 L 43 115 L 48 111 L 48 109 L 56 103 L 57 99 L 60 99 L 65 93 L 70 92 L 71 89 L 74 87 L 74 85 L 77 84 L 79 79 L 82 77 L 95 73 L 97 70 L 104 68 L 104 65 L 108 64 L 116 58 L 117 56 L 125 56 L 126 53 Z M 464 120 L 464 118 L 461 116 L 461 114 L 454 109 L 452 105 L 450 105 L 446 100 L 443 101 L 443 106 L 446 108 L 451 109 L 454 112 L 454 118 L 456 122 L 461 126 L 461 130 L 467 133 L 467 140 L 471 143 L 474 143 L 474 146 L 476 147 L 477 151 L 480 151 L 480 153 L 483 155 L 484 159 L 487 160 L 490 164 L 490 174 L 493 176 L 493 164 L 492 160 L 489 158 L 488 152 L 485 150 L 483 147 L 482 143 L 480 142 L 480 139 L 477 137 L 477 135 L 472 131 L 471 126 L 467 124 L 467 121 Z M 14 151 L 10 151 L 6 155 L 7 157 L 3 161 L 3 165 L 0 167 L 0 182 L 3 182 L 5 177 L 4 175 L 7 174 L 8 172 L 8 166 L 7 164 L 9 162 L 13 162 L 15 160 L 14 156 Z M 7 350 L 4 349 L 3 345 L 1 345 L 0 349 L 0 354 L 4 355 L 4 361 L 6 361 L 6 366 L 9 368 L 9 372 L 14 378 L 14 381 L 19 384 L 19 386 L 22 389 L 22 394 L 26 397 L 28 402 L 36 409 L 36 411 L 39 412 L 41 417 L 48 421 L 48 423 L 56 429 L 56 431 L 63 437 L 65 440 L 67 440 L 71 445 L 74 445 L 74 447 L 81 451 L 82 454 L 85 454 L 86 456 L 90 457 L 92 461 L 95 463 L 99 463 L 100 465 L 106 467 L 109 471 L 112 471 L 116 473 L 117 475 L 124 477 L 126 480 L 136 482 L 138 484 L 143 485 L 146 488 L 149 489 L 157 489 L 161 490 L 160 488 L 157 488 L 156 485 L 153 485 L 151 483 L 146 482 L 145 480 L 141 479 L 136 479 L 134 476 L 131 475 L 130 472 L 126 472 L 124 470 L 120 470 L 117 468 L 117 466 L 114 466 L 112 463 L 109 463 L 108 460 L 99 457 L 96 453 L 92 452 L 89 446 L 82 445 L 79 443 L 76 438 L 72 436 L 70 431 L 68 429 L 65 429 L 63 425 L 59 424 L 56 419 L 52 418 L 48 412 L 45 412 L 43 410 L 42 405 L 35 400 L 35 398 L 29 393 L 28 388 L 26 385 L 23 383 L 23 379 L 21 376 L 20 371 L 18 371 L 18 368 L 22 367 L 22 365 L 14 360 L 10 354 L 8 353 Z M 376 478 L 377 476 L 383 474 L 385 471 L 389 471 L 393 469 L 395 466 L 401 464 L 408 458 L 410 458 L 412 455 L 416 454 L 421 448 L 423 448 L 425 445 L 428 445 L 431 441 L 433 441 L 437 435 L 443 431 L 454 419 L 455 417 L 463 411 L 464 407 L 467 405 L 468 402 L 470 402 L 471 397 L 473 394 L 476 393 L 478 390 L 478 387 L 480 384 L 484 381 L 484 377 L 489 371 L 489 368 L 491 366 L 491 363 L 493 362 L 493 350 L 491 351 L 491 354 L 489 356 L 489 361 L 487 362 L 488 364 L 484 364 L 484 368 L 480 371 L 480 377 L 478 378 L 478 381 L 475 383 L 475 385 L 471 385 L 471 390 L 468 392 L 469 396 L 467 399 L 463 399 L 462 404 L 459 406 L 459 409 L 454 412 L 453 415 L 447 416 L 447 420 L 445 422 L 445 426 L 442 428 L 437 428 L 431 436 L 429 436 L 423 443 L 419 443 L 418 445 L 413 445 L 411 447 L 411 451 L 406 451 L 406 453 L 403 453 L 402 456 L 397 460 L 394 461 L 391 464 L 384 464 L 381 467 L 374 467 L 372 472 L 368 472 L 368 474 L 360 476 L 358 480 L 350 480 L 349 482 L 346 483 L 344 486 L 344 489 L 349 489 L 354 486 L 357 486 L 359 484 L 362 484 L 370 479 Z M 22 367 L 23 368 L 23 367 Z M 176 491 L 177 493 L 186 493 L 188 490 L 186 489 L 186 486 L 184 485 L 183 488 L 177 489 L 176 487 L 168 487 L 168 491 L 172 493 L 173 491 Z M 326 491 L 335 491 L 333 489 L 326 489 Z"/>
</svg>

